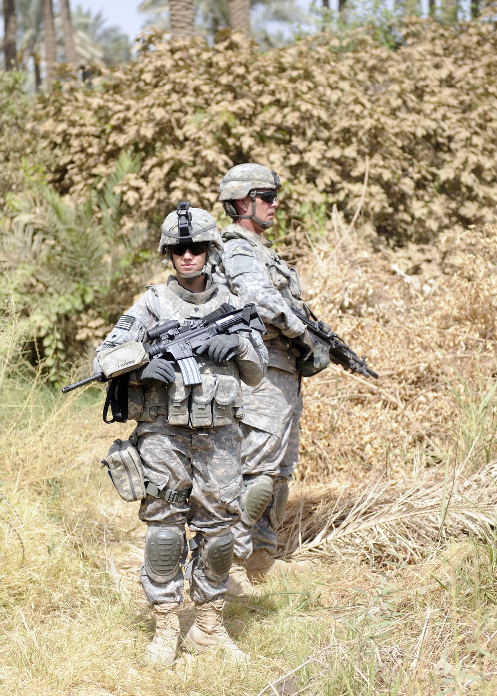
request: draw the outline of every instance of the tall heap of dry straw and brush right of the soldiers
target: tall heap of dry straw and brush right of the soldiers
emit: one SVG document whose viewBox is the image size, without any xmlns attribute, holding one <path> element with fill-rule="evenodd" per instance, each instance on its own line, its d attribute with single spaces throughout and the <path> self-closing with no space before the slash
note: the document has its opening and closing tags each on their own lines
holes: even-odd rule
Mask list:
<svg viewBox="0 0 497 696">
<path fill-rule="evenodd" d="M 304 380 L 284 548 L 375 562 L 486 537 L 497 514 L 497 226 L 371 251 L 336 223 L 303 285 L 317 315 L 379 372 Z M 299 497 L 300 496 L 300 497 Z"/>
</svg>

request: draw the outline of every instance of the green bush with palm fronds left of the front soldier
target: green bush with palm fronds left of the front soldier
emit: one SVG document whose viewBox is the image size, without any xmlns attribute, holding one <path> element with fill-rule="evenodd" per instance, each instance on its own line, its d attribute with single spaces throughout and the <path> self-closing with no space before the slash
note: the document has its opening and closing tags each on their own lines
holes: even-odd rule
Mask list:
<svg viewBox="0 0 497 696">
<path fill-rule="evenodd" d="M 127 306 L 148 260 L 147 228 L 126 222 L 129 207 L 119 192 L 138 166 L 138 158 L 120 155 L 85 203 L 48 186 L 10 198 L 0 296 L 19 314 L 31 362 L 42 360 L 54 381 Z"/>
</svg>

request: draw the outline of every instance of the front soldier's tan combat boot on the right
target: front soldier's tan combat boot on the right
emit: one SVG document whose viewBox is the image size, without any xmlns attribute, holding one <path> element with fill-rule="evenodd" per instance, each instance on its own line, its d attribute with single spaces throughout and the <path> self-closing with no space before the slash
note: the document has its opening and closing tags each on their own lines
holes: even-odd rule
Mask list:
<svg viewBox="0 0 497 696">
<path fill-rule="evenodd" d="M 237 648 L 223 625 L 223 599 L 195 605 L 195 623 L 184 639 L 186 647 L 205 653 L 219 648 L 237 663 L 248 664 L 248 656 Z"/>
</svg>

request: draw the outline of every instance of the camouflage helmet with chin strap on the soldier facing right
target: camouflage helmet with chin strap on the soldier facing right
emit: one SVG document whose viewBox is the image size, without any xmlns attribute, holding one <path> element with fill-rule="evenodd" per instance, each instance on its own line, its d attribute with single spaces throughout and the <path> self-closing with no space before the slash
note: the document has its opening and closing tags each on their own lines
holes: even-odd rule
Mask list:
<svg viewBox="0 0 497 696">
<path fill-rule="evenodd" d="M 255 196 L 258 190 L 267 191 L 273 189 L 279 191 L 281 189 L 280 177 L 273 169 L 263 166 L 262 164 L 253 164 L 246 162 L 245 164 L 237 164 L 228 169 L 226 174 L 221 179 L 219 186 L 219 200 L 223 203 L 223 207 L 227 215 L 233 220 L 254 220 L 262 228 L 271 227 L 271 222 L 262 222 L 255 216 Z M 252 199 L 252 214 L 239 215 L 232 201 L 239 198 L 250 196 Z"/>
</svg>

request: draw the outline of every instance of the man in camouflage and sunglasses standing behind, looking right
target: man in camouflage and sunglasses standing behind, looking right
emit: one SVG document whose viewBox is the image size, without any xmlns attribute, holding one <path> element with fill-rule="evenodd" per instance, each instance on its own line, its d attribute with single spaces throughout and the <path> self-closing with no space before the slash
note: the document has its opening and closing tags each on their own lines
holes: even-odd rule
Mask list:
<svg viewBox="0 0 497 696">
<path fill-rule="evenodd" d="M 233 529 L 236 565 L 230 571 L 228 599 L 260 596 L 251 580 L 309 567 L 275 557 L 276 530 L 299 453 L 302 397 L 296 363 L 302 351 L 312 350 L 306 326 L 290 309 L 290 303 L 303 306 L 297 271 L 264 238 L 274 222 L 280 188 L 276 172 L 260 164 L 232 167 L 219 188 L 219 200 L 233 223 L 221 232 L 224 249 L 215 277 L 244 302 L 255 303 L 269 351 L 265 379 L 258 386 L 242 386 L 242 519 Z"/>
</svg>

